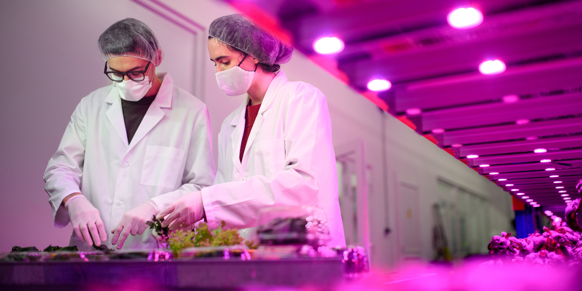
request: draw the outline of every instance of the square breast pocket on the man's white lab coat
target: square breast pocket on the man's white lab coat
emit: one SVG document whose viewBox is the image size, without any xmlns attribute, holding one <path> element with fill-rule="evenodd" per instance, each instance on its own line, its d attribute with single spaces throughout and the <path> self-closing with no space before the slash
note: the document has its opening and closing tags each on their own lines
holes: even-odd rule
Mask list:
<svg viewBox="0 0 582 291">
<path fill-rule="evenodd" d="M 173 189 L 182 169 L 184 151 L 173 147 L 148 145 L 140 184 Z"/>
</svg>

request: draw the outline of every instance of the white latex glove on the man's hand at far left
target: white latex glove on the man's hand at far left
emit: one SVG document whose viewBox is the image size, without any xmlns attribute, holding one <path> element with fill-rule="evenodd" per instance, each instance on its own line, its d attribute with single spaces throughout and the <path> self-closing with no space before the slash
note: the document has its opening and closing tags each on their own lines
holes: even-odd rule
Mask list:
<svg viewBox="0 0 582 291">
<path fill-rule="evenodd" d="M 94 243 L 95 246 L 100 246 L 101 241 L 107 242 L 107 233 L 99 210 L 87 200 L 87 197 L 73 196 L 65 203 L 65 208 L 69 211 L 74 233 L 81 241 L 87 244 Z"/>
</svg>

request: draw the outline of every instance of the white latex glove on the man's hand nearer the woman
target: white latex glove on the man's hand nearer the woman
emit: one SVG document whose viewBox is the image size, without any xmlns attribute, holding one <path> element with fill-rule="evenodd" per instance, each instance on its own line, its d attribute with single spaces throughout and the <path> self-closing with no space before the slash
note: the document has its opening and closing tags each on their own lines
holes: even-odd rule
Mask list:
<svg viewBox="0 0 582 291">
<path fill-rule="evenodd" d="M 149 227 L 145 222 L 151 220 L 157 212 L 155 207 L 147 202 L 127 211 L 115 229 L 111 230 L 111 233 L 113 233 L 111 244 L 117 244 L 117 249 L 119 250 L 123 247 L 123 243 L 125 243 L 130 234 L 132 236 L 143 234 Z"/>
</svg>

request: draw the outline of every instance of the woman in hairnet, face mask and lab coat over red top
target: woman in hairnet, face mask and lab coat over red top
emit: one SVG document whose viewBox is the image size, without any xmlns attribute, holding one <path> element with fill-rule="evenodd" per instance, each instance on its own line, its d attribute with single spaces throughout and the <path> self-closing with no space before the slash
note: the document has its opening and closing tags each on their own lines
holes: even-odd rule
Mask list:
<svg viewBox="0 0 582 291">
<path fill-rule="evenodd" d="M 261 208 L 313 205 L 327 214 L 328 245 L 345 246 L 325 96 L 310 84 L 288 81 L 279 64 L 289 61 L 293 48 L 244 16 L 214 20 L 209 34 L 218 86 L 247 98 L 222 123 L 214 185 L 183 196 L 158 218 L 166 217 L 171 229 L 202 218 L 216 229 L 225 221 L 249 238 Z"/>
</svg>

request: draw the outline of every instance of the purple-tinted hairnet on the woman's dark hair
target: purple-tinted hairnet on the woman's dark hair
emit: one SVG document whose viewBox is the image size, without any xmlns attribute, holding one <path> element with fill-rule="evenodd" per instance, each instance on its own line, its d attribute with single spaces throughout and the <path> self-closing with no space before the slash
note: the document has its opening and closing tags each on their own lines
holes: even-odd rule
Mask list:
<svg viewBox="0 0 582 291">
<path fill-rule="evenodd" d="M 289 62 L 293 47 L 283 44 L 260 29 L 242 14 L 222 16 L 210 24 L 208 35 L 257 58 L 260 63 L 274 65 Z"/>
</svg>

